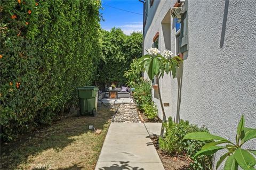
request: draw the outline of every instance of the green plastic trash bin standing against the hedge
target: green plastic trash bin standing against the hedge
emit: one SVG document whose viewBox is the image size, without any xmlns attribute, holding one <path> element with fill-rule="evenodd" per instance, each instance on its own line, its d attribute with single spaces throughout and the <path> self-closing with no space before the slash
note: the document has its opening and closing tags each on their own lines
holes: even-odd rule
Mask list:
<svg viewBox="0 0 256 170">
<path fill-rule="evenodd" d="M 98 87 L 85 86 L 77 88 L 80 115 L 93 115 L 97 113 Z"/>
</svg>

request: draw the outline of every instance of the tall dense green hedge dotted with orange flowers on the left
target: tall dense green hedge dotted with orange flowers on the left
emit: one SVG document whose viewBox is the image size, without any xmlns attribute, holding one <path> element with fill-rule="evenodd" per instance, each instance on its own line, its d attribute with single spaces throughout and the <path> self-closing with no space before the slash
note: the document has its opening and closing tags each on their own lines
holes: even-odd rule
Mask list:
<svg viewBox="0 0 256 170">
<path fill-rule="evenodd" d="M 1 138 L 38 124 L 74 103 L 76 87 L 94 81 L 98 0 L 1 1 Z"/>
</svg>

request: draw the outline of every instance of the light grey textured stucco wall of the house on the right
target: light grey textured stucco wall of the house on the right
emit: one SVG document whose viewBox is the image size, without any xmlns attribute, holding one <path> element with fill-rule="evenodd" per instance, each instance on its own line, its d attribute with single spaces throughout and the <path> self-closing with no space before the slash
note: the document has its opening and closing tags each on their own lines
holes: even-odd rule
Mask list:
<svg viewBox="0 0 256 170">
<path fill-rule="evenodd" d="M 157 31 L 159 49 L 167 48 L 161 22 L 174 3 L 158 4 L 154 24 L 145 27 L 145 49 L 151 47 Z M 177 78 L 165 75 L 159 83 L 163 102 L 170 103 L 165 107 L 167 116 L 206 125 L 211 133 L 233 141 L 242 114 L 245 126 L 256 128 L 256 12 L 250 10 L 255 8 L 255 1 L 189 1 L 188 56 Z M 171 50 L 175 52 L 172 19 L 170 24 Z M 255 149 L 255 142 L 248 145 Z"/>
</svg>

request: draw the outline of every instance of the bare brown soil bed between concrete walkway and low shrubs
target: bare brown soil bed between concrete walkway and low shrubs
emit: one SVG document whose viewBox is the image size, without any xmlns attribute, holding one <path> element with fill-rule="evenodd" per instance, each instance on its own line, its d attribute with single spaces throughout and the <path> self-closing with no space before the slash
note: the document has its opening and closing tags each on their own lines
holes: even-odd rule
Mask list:
<svg viewBox="0 0 256 170">
<path fill-rule="evenodd" d="M 158 137 L 150 137 L 165 170 L 188 170 L 189 160 L 183 156 L 171 156 L 159 148 Z"/>
</svg>

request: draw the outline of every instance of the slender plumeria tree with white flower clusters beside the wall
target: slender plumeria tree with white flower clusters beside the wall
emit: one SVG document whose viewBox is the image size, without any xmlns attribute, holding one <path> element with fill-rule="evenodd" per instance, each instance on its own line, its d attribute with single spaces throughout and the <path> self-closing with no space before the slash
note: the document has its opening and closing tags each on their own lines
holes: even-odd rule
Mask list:
<svg viewBox="0 0 256 170">
<path fill-rule="evenodd" d="M 160 50 L 157 48 L 149 48 L 146 50 L 148 54 L 142 56 L 138 60 L 138 67 L 142 72 L 146 71 L 150 80 L 156 78 L 156 82 L 159 82 L 159 79 L 164 76 L 164 73 L 169 74 L 172 72 L 172 77 L 176 75 L 176 70 L 179 67 L 179 64 L 183 60 L 179 56 L 175 56 L 170 50 L 164 50 L 161 54 Z M 163 123 L 166 122 L 166 115 L 164 111 L 163 101 L 161 98 L 160 85 L 157 86 L 158 96 L 163 112 Z M 161 137 L 164 135 L 164 126 L 162 124 Z"/>
</svg>

